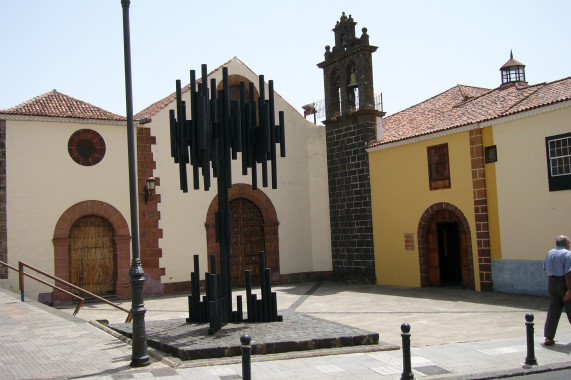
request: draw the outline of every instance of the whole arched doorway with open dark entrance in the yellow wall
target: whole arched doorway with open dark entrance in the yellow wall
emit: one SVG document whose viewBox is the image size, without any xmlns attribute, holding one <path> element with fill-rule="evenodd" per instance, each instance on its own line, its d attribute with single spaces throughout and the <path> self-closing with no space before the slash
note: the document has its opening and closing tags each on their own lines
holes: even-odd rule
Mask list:
<svg viewBox="0 0 571 380">
<path fill-rule="evenodd" d="M 470 227 L 464 214 L 449 203 L 429 207 L 418 226 L 421 286 L 474 289 Z"/>
</svg>

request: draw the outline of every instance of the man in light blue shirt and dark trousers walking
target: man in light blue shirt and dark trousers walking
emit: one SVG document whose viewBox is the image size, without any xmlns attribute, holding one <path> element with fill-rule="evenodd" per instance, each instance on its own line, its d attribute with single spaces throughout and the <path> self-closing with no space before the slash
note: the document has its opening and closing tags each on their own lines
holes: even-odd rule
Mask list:
<svg viewBox="0 0 571 380">
<path fill-rule="evenodd" d="M 543 335 L 545 345 L 555 344 L 555 331 L 565 308 L 567 319 L 571 323 L 571 242 L 564 235 L 555 239 L 556 247 L 547 252 L 543 262 L 543 270 L 547 273 L 547 290 L 549 292 L 549 309 Z"/>
</svg>

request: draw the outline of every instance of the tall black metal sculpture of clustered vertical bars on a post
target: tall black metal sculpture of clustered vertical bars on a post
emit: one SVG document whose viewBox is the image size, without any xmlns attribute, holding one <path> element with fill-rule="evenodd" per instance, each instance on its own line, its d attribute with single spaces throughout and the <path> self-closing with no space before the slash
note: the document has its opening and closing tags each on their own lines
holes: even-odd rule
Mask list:
<svg viewBox="0 0 571 380">
<path fill-rule="evenodd" d="M 209 292 L 206 321 L 210 322 L 209 333 L 218 331 L 229 321 L 241 320 L 238 312 L 232 311 L 232 283 L 230 281 L 230 242 L 231 225 L 228 201 L 228 189 L 232 187 L 231 161 L 242 153 L 242 174 L 252 171 L 252 188 L 257 186 L 257 164 L 261 164 L 262 185 L 268 186 L 268 161 L 272 169 L 272 188 L 277 188 L 277 146 L 280 155 L 285 157 L 284 113 L 279 112 L 279 124 L 275 123 L 274 86 L 269 81 L 269 99 L 265 98 L 264 76 L 259 76 L 259 98 L 256 104 L 254 84 L 249 84 L 249 98 L 246 99 L 246 87 L 240 83 L 240 99 L 230 100 L 228 68 L 222 68 L 222 90 L 216 91 L 216 80 L 211 79 L 208 89 L 206 65 L 202 65 L 202 80 L 198 84 L 194 70 L 190 71 L 190 114 L 186 119 L 186 104 L 182 101 L 180 80 L 176 81 L 176 115 L 170 110 L 171 156 L 179 164 L 180 188 L 188 192 L 186 164 L 192 165 L 193 187 L 200 188 L 200 176 L 204 190 L 209 190 L 212 175 L 217 178 L 218 212 L 216 213 L 216 241 L 220 244 L 220 274 L 216 274 L 215 257 L 211 259 L 212 273 L 207 276 L 206 287 Z M 258 122 L 259 115 L 259 122 Z M 195 283 L 192 300 L 189 298 L 189 312 L 193 305 L 200 303 L 198 258 L 195 257 Z M 265 265 L 265 264 L 264 264 Z M 265 268 L 264 268 L 265 271 Z M 262 279 L 264 272 L 260 273 Z M 263 280 L 265 281 L 265 280 Z M 267 280 L 269 281 L 269 279 Z M 198 287 L 198 289 L 195 289 Z M 198 291 L 198 293 L 194 293 Z M 264 291 L 264 290 L 262 290 Z M 275 297 L 275 296 L 274 296 Z M 238 304 L 241 308 L 241 300 Z M 250 300 L 247 300 L 248 303 Z M 199 313 L 199 306 L 194 314 Z M 277 305 L 276 305 L 277 309 Z M 248 310 L 250 312 L 250 310 Z M 239 310 L 241 314 L 241 310 Z M 234 317 L 233 317 L 234 315 Z M 198 315 L 189 318 L 194 321 Z M 248 318 L 251 315 L 248 314 Z M 276 316 L 277 318 L 277 316 Z M 250 319 L 251 320 L 251 319 Z M 277 320 L 277 319 L 276 319 Z M 196 320 L 197 322 L 199 320 Z"/>
</svg>

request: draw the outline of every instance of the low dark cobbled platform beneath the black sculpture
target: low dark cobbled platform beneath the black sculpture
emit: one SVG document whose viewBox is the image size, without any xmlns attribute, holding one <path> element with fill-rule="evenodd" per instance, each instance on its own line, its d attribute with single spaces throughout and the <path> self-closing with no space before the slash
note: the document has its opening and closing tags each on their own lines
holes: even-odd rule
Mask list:
<svg viewBox="0 0 571 380">
<path fill-rule="evenodd" d="M 131 334 L 127 323 L 108 327 L 126 336 Z M 398 349 L 379 343 L 378 333 L 296 312 L 285 312 L 283 322 L 229 323 L 215 335 L 208 334 L 208 324 L 188 324 L 184 319 L 147 321 L 146 327 L 150 347 L 180 360 L 239 356 L 240 336 L 244 334 L 252 337 L 252 355 L 363 345 Z"/>
</svg>

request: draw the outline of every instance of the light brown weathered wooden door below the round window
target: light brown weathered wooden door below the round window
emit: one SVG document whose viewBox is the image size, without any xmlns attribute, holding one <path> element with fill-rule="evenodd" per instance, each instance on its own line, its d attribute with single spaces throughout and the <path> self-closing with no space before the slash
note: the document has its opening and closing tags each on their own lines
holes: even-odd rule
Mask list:
<svg viewBox="0 0 571 380">
<path fill-rule="evenodd" d="M 113 228 L 103 218 L 87 216 L 71 228 L 71 283 L 97 295 L 115 292 Z"/>
</svg>

